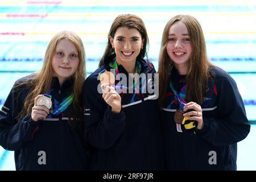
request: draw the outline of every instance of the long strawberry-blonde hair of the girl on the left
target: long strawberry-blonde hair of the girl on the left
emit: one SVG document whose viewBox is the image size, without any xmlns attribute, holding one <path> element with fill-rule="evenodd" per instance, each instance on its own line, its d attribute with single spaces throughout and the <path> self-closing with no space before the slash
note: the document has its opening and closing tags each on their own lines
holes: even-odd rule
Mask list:
<svg viewBox="0 0 256 182">
<path fill-rule="evenodd" d="M 72 103 L 72 110 L 76 113 L 81 113 L 82 110 L 82 85 L 85 79 L 85 50 L 84 44 L 82 43 L 81 38 L 75 32 L 72 31 L 61 31 L 58 32 L 48 44 L 46 49 L 46 54 L 44 56 L 44 62 L 42 69 L 36 73 L 35 77 L 31 78 L 27 82 L 23 82 L 19 84 L 21 85 L 29 85 L 30 92 L 28 92 L 25 100 L 24 107 L 18 114 L 18 121 L 23 118 L 25 115 L 30 114 L 32 107 L 34 106 L 34 98 L 39 94 L 47 93 L 51 87 L 52 77 L 53 77 L 53 69 L 51 66 L 52 57 L 55 54 L 56 46 L 60 42 L 60 40 L 67 39 L 70 40 L 73 44 L 75 44 L 77 51 L 79 53 L 79 67 L 77 71 L 72 75 L 73 79 L 73 93 L 74 100 Z M 80 114 L 79 114 L 79 118 Z"/>
</svg>

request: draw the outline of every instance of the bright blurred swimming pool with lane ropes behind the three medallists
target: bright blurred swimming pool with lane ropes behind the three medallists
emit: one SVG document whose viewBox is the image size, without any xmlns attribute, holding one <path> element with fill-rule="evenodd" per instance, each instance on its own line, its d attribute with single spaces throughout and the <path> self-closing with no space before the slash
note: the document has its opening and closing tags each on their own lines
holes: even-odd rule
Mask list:
<svg viewBox="0 0 256 182">
<path fill-rule="evenodd" d="M 237 82 L 252 127 L 238 143 L 238 170 L 256 170 L 256 1 L 255 0 L 0 0 L 0 108 L 15 80 L 38 71 L 49 40 L 56 32 L 80 35 L 86 52 L 87 76 L 103 55 L 109 28 L 118 14 L 139 15 L 146 24 L 148 58 L 158 69 L 162 31 L 177 14 L 195 16 L 203 27 L 213 64 Z M 0 170 L 15 170 L 14 152 L 0 147 Z"/>
</svg>

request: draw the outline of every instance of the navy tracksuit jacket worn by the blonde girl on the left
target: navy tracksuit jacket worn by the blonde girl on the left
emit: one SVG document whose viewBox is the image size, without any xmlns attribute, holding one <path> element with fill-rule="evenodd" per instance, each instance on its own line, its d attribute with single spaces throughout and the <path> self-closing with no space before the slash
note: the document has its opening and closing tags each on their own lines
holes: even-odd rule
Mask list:
<svg viewBox="0 0 256 182">
<path fill-rule="evenodd" d="M 24 98 L 30 92 L 27 85 L 16 84 L 34 77 L 20 78 L 0 110 L 0 144 L 6 150 L 14 151 L 16 170 L 86 170 L 89 152 L 83 134 L 69 125 L 68 109 L 60 115 L 49 114 L 35 122 L 31 114 L 19 122 L 16 116 L 22 109 Z M 60 104 L 72 93 L 72 79 L 60 88 L 59 80 L 53 77 L 52 107 Z M 73 118 L 72 118 L 73 119 Z"/>
</svg>

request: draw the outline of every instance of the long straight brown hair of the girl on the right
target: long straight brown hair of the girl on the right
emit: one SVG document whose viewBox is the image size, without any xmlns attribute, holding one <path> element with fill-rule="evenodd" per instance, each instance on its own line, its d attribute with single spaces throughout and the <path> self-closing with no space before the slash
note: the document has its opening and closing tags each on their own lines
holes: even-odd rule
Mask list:
<svg viewBox="0 0 256 182">
<path fill-rule="evenodd" d="M 191 40 L 192 53 L 188 60 L 187 69 L 187 102 L 201 104 L 207 90 L 209 68 L 212 65 L 207 58 L 206 44 L 200 23 L 191 15 L 176 15 L 170 19 L 164 27 L 162 43 L 159 54 L 159 105 L 163 107 L 164 97 L 170 82 L 170 71 L 174 61 L 168 56 L 166 47 L 169 30 L 175 22 L 183 22 L 188 29 Z"/>
</svg>

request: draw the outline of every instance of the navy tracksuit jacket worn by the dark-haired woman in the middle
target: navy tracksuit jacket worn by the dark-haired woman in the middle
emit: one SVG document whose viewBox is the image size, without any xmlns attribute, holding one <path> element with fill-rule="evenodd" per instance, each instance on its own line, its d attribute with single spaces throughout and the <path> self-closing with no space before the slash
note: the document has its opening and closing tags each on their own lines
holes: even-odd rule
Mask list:
<svg viewBox="0 0 256 182">
<path fill-rule="evenodd" d="M 86 78 L 84 85 L 85 138 L 92 147 L 92 170 L 159 170 L 163 169 L 163 139 L 157 100 L 151 94 L 121 93 L 122 111 L 112 113 L 102 94 L 97 92 L 98 73 L 110 70 L 109 61 Z M 141 63 L 141 73 L 155 73 L 150 63 Z M 119 73 L 128 73 L 118 66 Z M 144 83 L 151 83 L 146 80 Z M 142 85 L 140 85 L 142 86 Z M 146 85 L 144 85 L 146 86 Z M 154 94 L 154 93 L 153 93 Z M 152 94 L 152 95 L 153 95 Z"/>
</svg>

